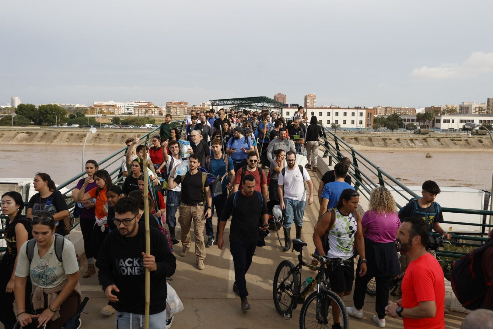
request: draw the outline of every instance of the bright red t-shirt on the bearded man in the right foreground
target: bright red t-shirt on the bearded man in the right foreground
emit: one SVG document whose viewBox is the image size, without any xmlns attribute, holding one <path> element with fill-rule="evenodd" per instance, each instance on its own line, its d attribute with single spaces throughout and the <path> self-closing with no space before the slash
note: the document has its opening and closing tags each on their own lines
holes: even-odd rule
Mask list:
<svg viewBox="0 0 493 329">
<path fill-rule="evenodd" d="M 422 301 L 433 300 L 436 313 L 433 318 L 402 318 L 405 329 L 444 329 L 445 282 L 443 270 L 434 256 L 426 253 L 409 263 L 402 279 L 402 307 L 413 308 Z"/>
</svg>

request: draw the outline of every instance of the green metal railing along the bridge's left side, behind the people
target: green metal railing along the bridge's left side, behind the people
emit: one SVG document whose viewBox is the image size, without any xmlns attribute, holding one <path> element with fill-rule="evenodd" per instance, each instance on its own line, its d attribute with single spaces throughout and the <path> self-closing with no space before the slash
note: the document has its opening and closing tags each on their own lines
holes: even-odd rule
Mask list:
<svg viewBox="0 0 493 329">
<path fill-rule="evenodd" d="M 173 121 L 173 122 L 175 123 L 176 127 L 178 128 L 178 130 L 180 132 L 180 136 L 181 136 L 183 134 L 183 130 L 186 128 L 185 127 L 186 119 L 177 120 L 177 121 Z M 149 142 L 149 138 L 151 138 L 156 133 L 159 133 L 159 127 L 154 128 L 150 132 L 141 136 L 139 145 L 144 144 L 146 142 Z M 126 151 L 127 151 L 127 147 L 122 147 L 120 150 L 114 152 L 113 154 L 109 155 L 105 159 L 98 161 L 99 169 L 107 170 L 109 175 L 111 176 L 113 183 L 115 183 L 115 184 L 123 181 L 123 175 L 120 174 L 120 168 L 121 168 L 122 157 L 123 157 L 123 155 L 125 155 Z M 115 163 L 117 163 L 119 165 L 117 165 L 115 169 L 109 170 L 109 167 L 114 165 Z M 70 216 L 72 217 L 72 227 L 70 228 L 71 230 L 78 225 L 78 222 L 74 222 L 74 220 L 73 220 L 73 209 L 75 206 L 75 201 L 73 199 L 71 199 L 71 194 L 72 194 L 72 191 L 75 189 L 74 183 L 77 183 L 77 181 L 80 178 L 82 178 L 84 175 L 86 175 L 85 171 L 75 175 L 74 177 L 70 178 L 68 181 L 57 186 L 58 190 L 60 190 L 64 187 L 68 188 L 68 190 L 66 192 L 64 192 L 63 195 L 66 199 L 70 198 L 70 201 L 67 203 L 67 206 L 69 207 Z M 69 187 L 69 185 L 71 185 L 71 184 L 74 184 L 74 185 Z M 28 202 L 24 202 L 24 205 L 27 207 Z M 6 216 L 0 216 L 0 220 L 5 219 L 5 218 L 6 218 Z M 3 230 L 3 229 L 0 230 L 0 238 L 2 238 L 2 239 L 3 239 L 4 231 L 5 230 Z M 5 250 L 6 250 L 5 247 L 0 248 L 0 253 L 5 252 Z"/>
</svg>

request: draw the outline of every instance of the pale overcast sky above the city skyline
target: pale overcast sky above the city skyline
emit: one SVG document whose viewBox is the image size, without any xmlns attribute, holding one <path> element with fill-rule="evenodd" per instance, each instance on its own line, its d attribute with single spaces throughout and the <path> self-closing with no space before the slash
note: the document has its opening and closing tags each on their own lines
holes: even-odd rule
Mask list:
<svg viewBox="0 0 493 329">
<path fill-rule="evenodd" d="M 493 2 L 1 1 L 0 104 L 493 97 Z"/>
</svg>

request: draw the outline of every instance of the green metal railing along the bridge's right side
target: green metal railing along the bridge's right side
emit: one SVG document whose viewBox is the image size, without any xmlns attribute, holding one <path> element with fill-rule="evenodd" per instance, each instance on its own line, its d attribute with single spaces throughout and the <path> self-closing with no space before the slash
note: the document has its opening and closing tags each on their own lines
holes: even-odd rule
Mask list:
<svg viewBox="0 0 493 329">
<path fill-rule="evenodd" d="M 371 190 L 377 186 L 386 186 L 389 190 L 395 191 L 397 194 L 401 195 L 404 199 L 409 201 L 411 198 L 419 197 L 415 192 L 410 190 L 408 187 L 397 181 L 395 178 L 387 174 L 382 168 L 368 160 L 363 154 L 350 146 L 343 138 L 334 134 L 327 128 L 320 126 L 322 128 L 323 137 L 319 139 L 319 146 L 324 151 L 322 156 L 326 157 L 330 155 L 335 159 L 339 160 L 342 157 L 348 157 L 352 159 L 352 164 L 348 174 L 352 177 L 354 182 L 354 187 L 359 191 L 367 200 L 370 199 Z M 398 187 L 398 188 L 397 188 Z M 397 207 L 402 208 L 404 205 L 397 204 Z M 476 210 L 476 209 L 460 209 L 460 208 L 442 208 L 443 213 L 458 213 L 458 214 L 472 214 L 478 216 L 491 216 L 492 211 L 489 210 Z M 452 238 L 457 241 L 451 241 L 453 245 L 460 246 L 474 246 L 477 247 L 478 243 L 484 243 L 487 238 L 483 236 L 488 235 L 488 228 L 493 227 L 493 225 L 487 224 L 485 220 L 482 223 L 467 223 L 467 222 L 457 222 L 457 221 L 443 221 L 446 224 L 461 224 L 469 226 L 479 226 L 480 227 L 480 237 L 470 236 L 470 235 L 460 235 L 451 234 Z M 433 235 L 439 236 L 437 233 Z M 476 242 L 476 243 L 471 243 Z M 437 252 L 438 256 L 459 258 L 465 253 L 453 252 L 453 251 L 443 251 L 439 250 Z M 453 260 L 447 259 L 444 262 L 453 262 Z"/>
</svg>

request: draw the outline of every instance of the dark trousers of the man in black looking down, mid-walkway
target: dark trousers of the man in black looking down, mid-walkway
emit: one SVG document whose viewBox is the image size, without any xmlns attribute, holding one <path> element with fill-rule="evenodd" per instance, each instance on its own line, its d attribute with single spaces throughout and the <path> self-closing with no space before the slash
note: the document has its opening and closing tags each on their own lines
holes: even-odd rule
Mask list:
<svg viewBox="0 0 493 329">
<path fill-rule="evenodd" d="M 229 241 L 231 256 L 233 256 L 233 265 L 235 266 L 235 283 L 240 291 L 240 298 L 248 296 L 246 290 L 245 274 L 251 265 L 251 259 L 255 254 L 257 242 L 245 244 L 240 241 Z"/>
</svg>

